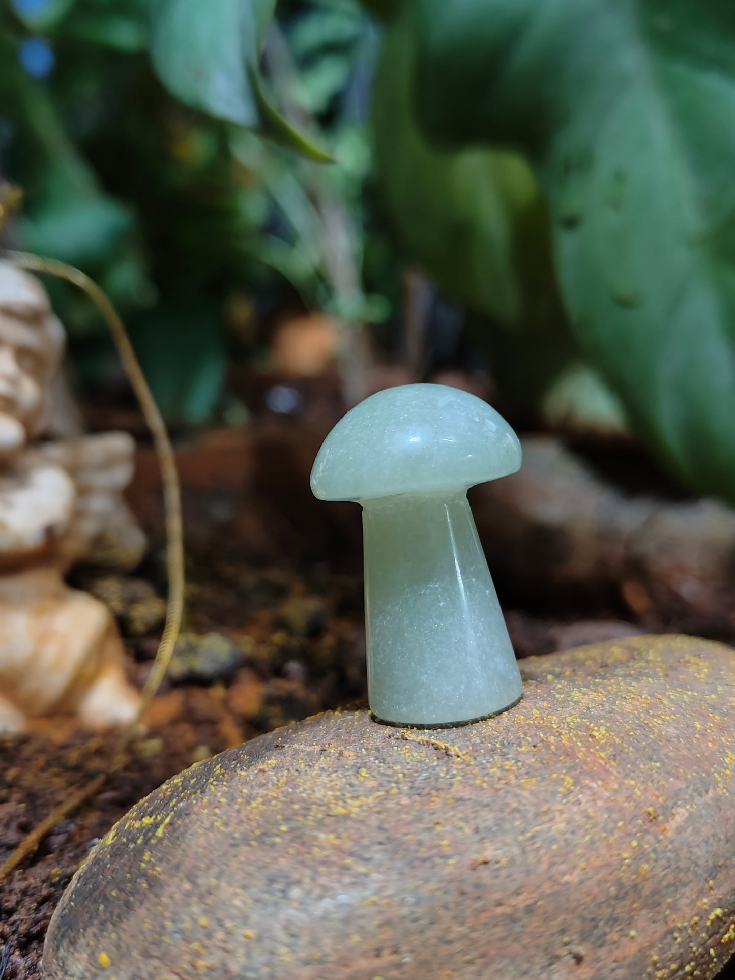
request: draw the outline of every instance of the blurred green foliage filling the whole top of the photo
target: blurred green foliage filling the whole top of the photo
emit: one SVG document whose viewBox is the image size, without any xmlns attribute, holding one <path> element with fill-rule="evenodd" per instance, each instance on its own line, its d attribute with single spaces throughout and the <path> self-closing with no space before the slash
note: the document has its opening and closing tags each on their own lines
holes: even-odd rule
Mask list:
<svg viewBox="0 0 735 980">
<path fill-rule="evenodd" d="M 16 234 L 93 274 L 165 411 L 202 420 L 253 296 L 389 317 L 379 200 L 404 261 L 484 315 L 504 407 L 627 419 L 735 501 L 735 7 L 547 7 L 6 0 Z"/>
</svg>

